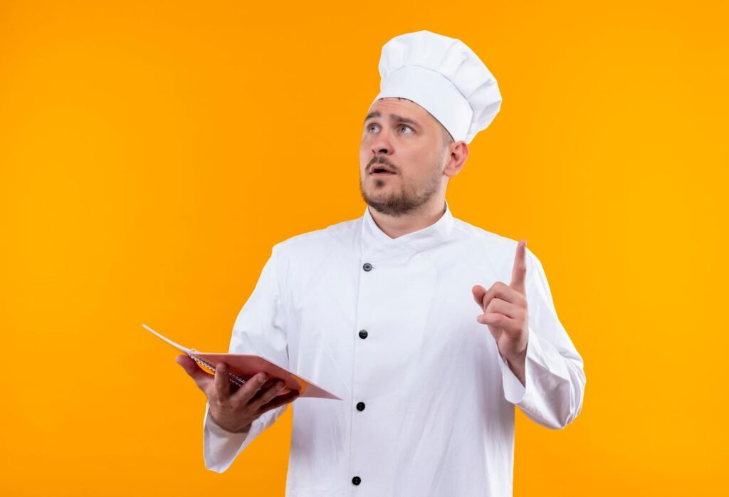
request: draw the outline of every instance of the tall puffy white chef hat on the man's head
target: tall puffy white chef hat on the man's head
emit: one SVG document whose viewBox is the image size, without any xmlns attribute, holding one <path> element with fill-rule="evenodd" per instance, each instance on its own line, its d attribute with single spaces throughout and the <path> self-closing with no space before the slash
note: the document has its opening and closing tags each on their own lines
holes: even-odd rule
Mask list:
<svg viewBox="0 0 729 497">
<path fill-rule="evenodd" d="M 395 36 L 382 47 L 380 98 L 407 98 L 429 111 L 455 141 L 471 143 L 501 109 L 491 71 L 459 39 L 430 31 Z"/>
</svg>

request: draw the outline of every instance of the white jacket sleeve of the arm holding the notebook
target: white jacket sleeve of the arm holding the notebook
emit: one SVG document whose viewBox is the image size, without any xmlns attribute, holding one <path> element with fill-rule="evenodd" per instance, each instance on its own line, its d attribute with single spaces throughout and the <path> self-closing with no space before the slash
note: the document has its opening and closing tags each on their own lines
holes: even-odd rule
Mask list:
<svg viewBox="0 0 729 497">
<path fill-rule="evenodd" d="M 233 325 L 228 353 L 254 353 L 289 369 L 286 325 L 278 280 L 277 246 L 263 267 L 258 282 Z M 238 454 L 268 428 L 286 410 L 286 405 L 266 411 L 245 433 L 231 433 L 221 428 L 210 415 L 206 403 L 203 418 L 203 458 L 205 467 L 222 473 Z"/>
</svg>

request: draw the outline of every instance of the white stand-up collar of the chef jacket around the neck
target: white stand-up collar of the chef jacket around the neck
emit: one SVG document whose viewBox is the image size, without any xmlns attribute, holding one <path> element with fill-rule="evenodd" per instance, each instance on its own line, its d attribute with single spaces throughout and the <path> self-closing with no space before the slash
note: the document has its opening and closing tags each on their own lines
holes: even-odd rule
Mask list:
<svg viewBox="0 0 729 497">
<path fill-rule="evenodd" d="M 370 206 L 364 208 L 362 216 L 362 254 L 366 257 L 392 257 L 399 254 L 415 254 L 445 242 L 453 230 L 453 214 L 448 202 L 445 213 L 436 222 L 407 235 L 390 238 L 378 227 L 370 213 Z"/>
</svg>

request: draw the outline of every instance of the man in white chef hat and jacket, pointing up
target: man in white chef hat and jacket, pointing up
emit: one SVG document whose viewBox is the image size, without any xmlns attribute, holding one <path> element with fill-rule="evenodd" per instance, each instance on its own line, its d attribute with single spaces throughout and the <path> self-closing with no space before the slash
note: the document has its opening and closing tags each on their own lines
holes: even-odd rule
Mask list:
<svg viewBox="0 0 729 497">
<path fill-rule="evenodd" d="M 257 353 L 342 397 L 232 391 L 186 356 L 208 403 L 206 467 L 225 471 L 289 402 L 287 496 L 510 496 L 514 406 L 564 428 L 582 358 L 539 259 L 451 215 L 448 180 L 499 111 L 465 44 L 429 31 L 382 50 L 359 149 L 364 216 L 276 244 L 233 327 Z M 488 198 L 486 198 L 488 202 Z"/>
</svg>

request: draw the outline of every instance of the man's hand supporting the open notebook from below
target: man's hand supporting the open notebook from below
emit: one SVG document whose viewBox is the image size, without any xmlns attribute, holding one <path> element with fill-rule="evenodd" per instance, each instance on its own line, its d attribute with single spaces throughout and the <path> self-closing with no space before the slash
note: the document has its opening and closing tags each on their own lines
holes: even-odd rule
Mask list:
<svg viewBox="0 0 729 497">
<path fill-rule="evenodd" d="M 213 420 L 221 428 L 234 433 L 249 431 L 254 420 L 264 412 L 293 402 L 299 396 L 298 391 L 277 396 L 284 388 L 282 380 L 264 388 L 268 381 L 268 375 L 264 372 L 253 375 L 243 386 L 233 391 L 227 375 L 227 364 L 219 363 L 213 377 L 190 356 L 177 356 L 176 361 L 208 398 Z"/>
</svg>

